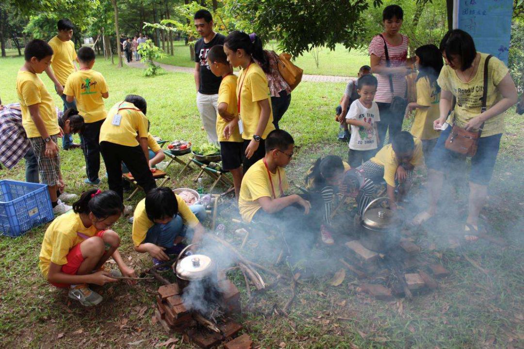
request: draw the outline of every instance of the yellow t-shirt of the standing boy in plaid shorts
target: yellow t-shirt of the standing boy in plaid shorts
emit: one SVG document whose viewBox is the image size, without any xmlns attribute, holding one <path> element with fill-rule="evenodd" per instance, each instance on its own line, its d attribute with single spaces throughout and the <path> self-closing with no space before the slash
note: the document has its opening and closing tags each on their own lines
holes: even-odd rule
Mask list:
<svg viewBox="0 0 524 349">
<path fill-rule="evenodd" d="M 38 75 L 19 70 L 16 76 L 16 93 L 18 94 L 20 109 L 22 111 L 22 126 L 26 130 L 28 138 L 41 137 L 29 113 L 29 106 L 35 104 L 38 104 L 40 117 L 46 126 L 49 136 L 60 133 L 53 98 L 49 92 L 47 92 L 46 86 Z"/>
</svg>

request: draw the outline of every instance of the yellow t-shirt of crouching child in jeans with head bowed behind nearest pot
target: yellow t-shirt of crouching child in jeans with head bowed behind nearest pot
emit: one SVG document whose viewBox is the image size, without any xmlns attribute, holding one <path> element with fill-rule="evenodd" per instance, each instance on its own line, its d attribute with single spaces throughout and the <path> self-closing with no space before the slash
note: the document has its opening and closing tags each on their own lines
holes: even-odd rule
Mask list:
<svg viewBox="0 0 524 349">
<path fill-rule="evenodd" d="M 182 218 L 183 223 L 190 228 L 194 228 L 198 223 L 200 223 L 198 218 L 196 218 L 194 213 L 189 209 L 189 206 L 185 203 L 184 199 L 176 194 L 175 196 L 177 197 L 178 214 Z M 147 217 L 146 199 L 142 199 L 138 202 L 133 217 L 133 243 L 135 246 L 139 246 L 144 242 L 144 240 L 146 240 L 149 228 L 155 224 Z"/>
</svg>

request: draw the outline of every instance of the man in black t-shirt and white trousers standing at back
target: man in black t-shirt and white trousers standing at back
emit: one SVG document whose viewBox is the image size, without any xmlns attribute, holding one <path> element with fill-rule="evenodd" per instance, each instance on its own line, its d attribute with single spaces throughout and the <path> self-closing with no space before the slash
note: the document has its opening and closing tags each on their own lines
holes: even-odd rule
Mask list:
<svg viewBox="0 0 524 349">
<path fill-rule="evenodd" d="M 202 37 L 195 43 L 196 107 L 200 112 L 204 129 L 208 132 L 209 141 L 217 143 L 216 114 L 218 113 L 217 102 L 222 77 L 215 76 L 209 70 L 206 57 L 213 46 L 224 44 L 225 36 L 213 30 L 213 17 L 208 10 L 198 10 L 194 15 L 194 23 Z"/>
</svg>

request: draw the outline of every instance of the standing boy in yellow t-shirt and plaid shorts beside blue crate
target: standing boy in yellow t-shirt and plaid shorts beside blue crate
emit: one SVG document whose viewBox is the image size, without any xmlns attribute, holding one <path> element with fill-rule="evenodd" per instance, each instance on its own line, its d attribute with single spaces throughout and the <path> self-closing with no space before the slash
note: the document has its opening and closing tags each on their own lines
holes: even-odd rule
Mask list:
<svg viewBox="0 0 524 349">
<path fill-rule="evenodd" d="M 35 152 L 41 182 L 47 184 L 53 212 L 59 215 L 71 209 L 57 197 L 57 190 L 64 187 L 57 145 L 60 128 L 53 98 L 37 75 L 49 66 L 52 54 L 53 50 L 45 41 L 35 39 L 27 43 L 25 63 L 16 77 L 16 92 L 22 126 Z"/>
</svg>

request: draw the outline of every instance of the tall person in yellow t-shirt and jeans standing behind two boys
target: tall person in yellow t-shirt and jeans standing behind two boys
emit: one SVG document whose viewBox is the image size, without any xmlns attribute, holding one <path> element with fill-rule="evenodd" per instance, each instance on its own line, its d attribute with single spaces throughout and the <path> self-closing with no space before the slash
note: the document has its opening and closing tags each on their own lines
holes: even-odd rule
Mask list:
<svg viewBox="0 0 524 349">
<path fill-rule="evenodd" d="M 60 19 L 57 23 L 58 34 L 49 40 L 49 46 L 53 49 L 53 57 L 51 58 L 51 66 L 46 69 L 46 74 L 54 83 L 54 89 L 62 98 L 63 112 L 69 108 L 76 109 L 77 103 L 68 102 L 63 94 L 65 82 L 71 73 L 77 71 L 77 66 L 74 61 L 78 62 L 77 51 L 74 50 L 74 43 L 71 41 L 73 37 L 73 24 L 69 19 Z M 62 137 L 63 150 L 73 148 L 80 148 L 80 144 L 73 143 L 73 137 L 69 133 L 64 133 Z"/>
</svg>

